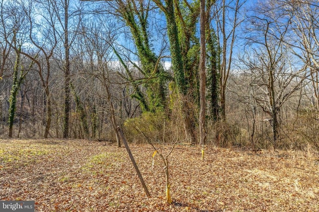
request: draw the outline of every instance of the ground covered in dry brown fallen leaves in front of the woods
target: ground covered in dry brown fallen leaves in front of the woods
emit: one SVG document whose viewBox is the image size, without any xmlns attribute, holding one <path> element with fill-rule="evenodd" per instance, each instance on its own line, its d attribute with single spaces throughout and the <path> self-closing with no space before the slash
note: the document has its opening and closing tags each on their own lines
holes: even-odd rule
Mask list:
<svg viewBox="0 0 319 212">
<path fill-rule="evenodd" d="M 152 195 L 147 198 L 124 147 L 84 140 L 0 140 L 0 200 L 35 201 L 36 212 L 319 211 L 319 155 L 176 145 L 169 160 L 171 197 L 150 145 L 131 150 Z M 170 146 L 161 146 L 162 152 Z"/>
</svg>

